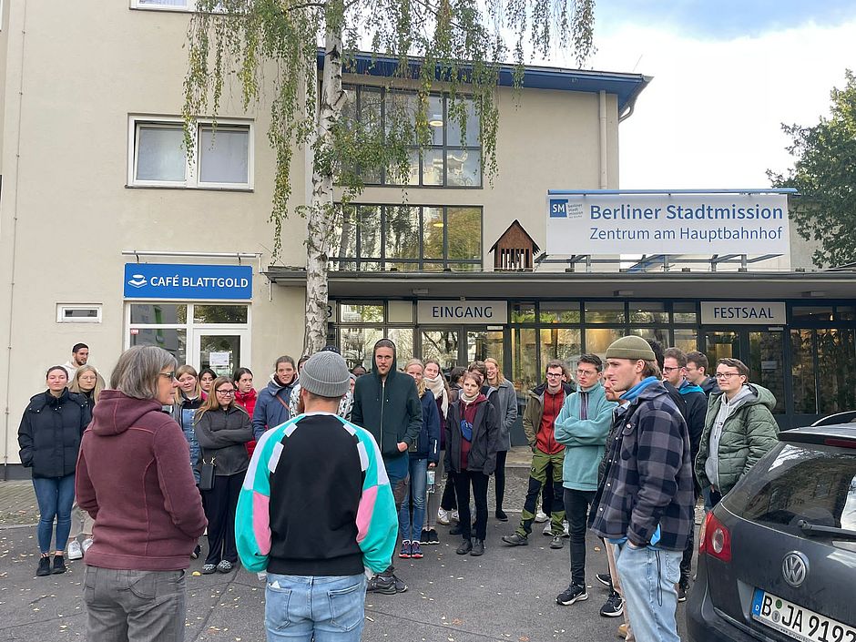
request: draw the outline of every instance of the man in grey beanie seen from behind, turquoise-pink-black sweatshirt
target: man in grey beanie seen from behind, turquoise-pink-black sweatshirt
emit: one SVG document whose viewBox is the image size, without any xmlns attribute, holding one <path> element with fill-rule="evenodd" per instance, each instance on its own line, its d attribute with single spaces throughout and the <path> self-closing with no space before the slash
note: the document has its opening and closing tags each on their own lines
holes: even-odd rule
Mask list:
<svg viewBox="0 0 856 642">
<path fill-rule="evenodd" d="M 365 568 L 389 566 L 398 515 L 372 434 L 336 411 L 351 373 L 335 352 L 301 372 L 304 412 L 265 432 L 235 518 L 240 560 L 267 571 L 268 640 L 362 637 Z"/>
</svg>

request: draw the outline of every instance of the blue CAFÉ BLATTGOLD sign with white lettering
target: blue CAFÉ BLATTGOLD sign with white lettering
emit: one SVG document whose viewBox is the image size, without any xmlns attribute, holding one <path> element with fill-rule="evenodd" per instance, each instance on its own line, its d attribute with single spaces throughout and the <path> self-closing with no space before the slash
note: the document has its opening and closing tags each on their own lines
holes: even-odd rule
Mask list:
<svg viewBox="0 0 856 642">
<path fill-rule="evenodd" d="M 249 265 L 126 263 L 128 299 L 252 299 Z"/>
</svg>

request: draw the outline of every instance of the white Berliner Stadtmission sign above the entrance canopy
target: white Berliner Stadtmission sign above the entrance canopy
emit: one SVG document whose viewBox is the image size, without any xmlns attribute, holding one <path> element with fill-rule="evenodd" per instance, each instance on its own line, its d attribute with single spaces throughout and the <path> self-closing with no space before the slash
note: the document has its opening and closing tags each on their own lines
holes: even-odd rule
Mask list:
<svg viewBox="0 0 856 642">
<path fill-rule="evenodd" d="M 787 254 L 783 193 L 547 193 L 548 254 Z"/>
</svg>

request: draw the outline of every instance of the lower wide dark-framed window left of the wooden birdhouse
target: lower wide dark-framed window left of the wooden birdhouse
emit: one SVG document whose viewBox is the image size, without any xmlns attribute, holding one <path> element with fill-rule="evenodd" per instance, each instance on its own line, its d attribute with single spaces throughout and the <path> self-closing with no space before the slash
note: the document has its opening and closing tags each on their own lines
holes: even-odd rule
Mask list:
<svg viewBox="0 0 856 642">
<path fill-rule="evenodd" d="M 331 244 L 334 270 L 482 270 L 482 209 L 344 208 Z"/>
</svg>

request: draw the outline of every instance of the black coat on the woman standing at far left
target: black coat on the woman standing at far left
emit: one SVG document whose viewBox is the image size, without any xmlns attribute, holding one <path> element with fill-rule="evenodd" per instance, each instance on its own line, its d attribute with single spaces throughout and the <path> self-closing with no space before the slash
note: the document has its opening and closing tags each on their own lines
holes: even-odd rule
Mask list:
<svg viewBox="0 0 856 642">
<path fill-rule="evenodd" d="M 80 437 L 92 420 L 87 398 L 63 391 L 39 392 L 26 406 L 18 428 L 21 464 L 34 477 L 65 477 L 75 472 Z"/>
</svg>

